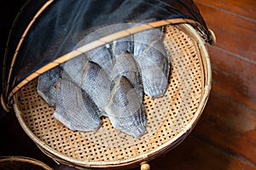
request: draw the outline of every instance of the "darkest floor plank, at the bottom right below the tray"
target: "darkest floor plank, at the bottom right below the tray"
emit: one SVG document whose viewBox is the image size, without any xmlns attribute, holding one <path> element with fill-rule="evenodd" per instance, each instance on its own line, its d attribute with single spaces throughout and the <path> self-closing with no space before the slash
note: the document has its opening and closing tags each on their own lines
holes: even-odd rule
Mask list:
<svg viewBox="0 0 256 170">
<path fill-rule="evenodd" d="M 151 169 L 189 169 L 189 170 L 255 170 L 256 167 L 219 150 L 212 144 L 189 135 L 187 139 L 165 156 L 149 161 Z M 133 168 L 132 170 L 137 170 Z"/>
</svg>

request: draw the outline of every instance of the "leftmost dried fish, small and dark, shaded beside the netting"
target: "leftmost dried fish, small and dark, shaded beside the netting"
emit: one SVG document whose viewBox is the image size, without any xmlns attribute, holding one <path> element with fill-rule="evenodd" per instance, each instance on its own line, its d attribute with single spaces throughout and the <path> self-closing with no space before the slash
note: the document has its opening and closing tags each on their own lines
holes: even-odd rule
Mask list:
<svg viewBox="0 0 256 170">
<path fill-rule="evenodd" d="M 55 68 L 45 72 L 38 77 L 38 94 L 48 103 L 50 106 L 55 105 L 56 89 L 55 82 L 60 77 L 61 68 L 56 66 Z"/>
</svg>

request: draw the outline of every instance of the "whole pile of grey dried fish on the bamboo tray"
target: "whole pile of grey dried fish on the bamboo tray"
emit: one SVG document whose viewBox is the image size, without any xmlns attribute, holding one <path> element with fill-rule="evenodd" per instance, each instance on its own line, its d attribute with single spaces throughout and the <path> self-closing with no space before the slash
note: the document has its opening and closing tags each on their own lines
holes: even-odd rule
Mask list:
<svg viewBox="0 0 256 170">
<path fill-rule="evenodd" d="M 81 54 L 41 75 L 38 94 L 72 130 L 96 131 L 108 116 L 115 129 L 138 138 L 147 126 L 143 94 L 161 97 L 168 85 L 162 37 L 151 29 Z"/>
</svg>

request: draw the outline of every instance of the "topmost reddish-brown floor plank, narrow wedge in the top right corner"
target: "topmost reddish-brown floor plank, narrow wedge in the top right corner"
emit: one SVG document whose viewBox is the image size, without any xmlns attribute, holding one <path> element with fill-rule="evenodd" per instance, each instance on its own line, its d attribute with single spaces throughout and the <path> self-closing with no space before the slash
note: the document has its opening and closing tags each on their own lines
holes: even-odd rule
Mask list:
<svg viewBox="0 0 256 170">
<path fill-rule="evenodd" d="M 227 10 L 234 15 L 240 15 L 241 17 L 247 17 L 247 20 L 256 20 L 256 1 L 255 0 L 195 0 L 195 3 L 201 3 L 214 8 L 220 8 L 220 10 Z"/>
</svg>

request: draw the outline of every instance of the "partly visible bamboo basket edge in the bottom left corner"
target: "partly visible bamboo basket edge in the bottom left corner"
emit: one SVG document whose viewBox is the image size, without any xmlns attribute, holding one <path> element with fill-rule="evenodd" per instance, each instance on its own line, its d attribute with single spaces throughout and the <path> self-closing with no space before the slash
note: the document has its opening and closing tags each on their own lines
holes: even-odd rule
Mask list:
<svg viewBox="0 0 256 170">
<path fill-rule="evenodd" d="M 45 165 L 42 161 L 38 161 L 23 156 L 1 156 L 0 169 L 2 170 L 53 170 Z"/>
</svg>

